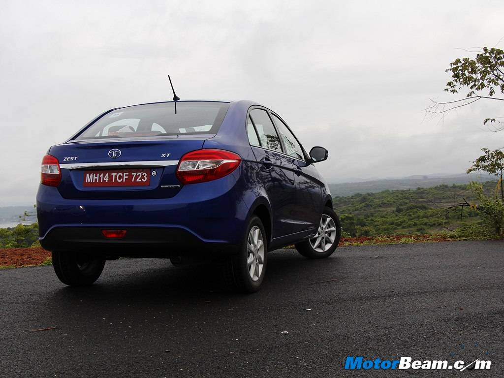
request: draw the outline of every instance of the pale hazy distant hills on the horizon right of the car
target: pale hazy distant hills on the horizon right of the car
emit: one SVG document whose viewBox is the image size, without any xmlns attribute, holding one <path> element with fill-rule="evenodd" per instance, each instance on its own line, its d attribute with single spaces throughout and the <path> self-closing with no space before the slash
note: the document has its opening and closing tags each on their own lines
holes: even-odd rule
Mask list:
<svg viewBox="0 0 504 378">
<path fill-rule="evenodd" d="M 408 190 L 417 187 L 428 188 L 441 184 L 468 184 L 470 181 L 485 182 L 493 180 L 495 176 L 487 174 L 454 174 L 454 175 L 414 175 L 404 178 L 387 178 L 360 182 L 343 182 L 329 184 L 331 195 L 353 196 L 361 193 L 379 193 L 386 190 Z"/>
</svg>

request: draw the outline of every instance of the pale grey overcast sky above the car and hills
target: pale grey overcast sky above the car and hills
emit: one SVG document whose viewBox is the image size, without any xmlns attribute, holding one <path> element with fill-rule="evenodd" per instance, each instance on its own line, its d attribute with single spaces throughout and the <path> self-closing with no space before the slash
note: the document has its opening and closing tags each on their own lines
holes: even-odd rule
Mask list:
<svg viewBox="0 0 504 378">
<path fill-rule="evenodd" d="M 93 4 L 94 3 L 94 4 Z M 504 134 L 478 102 L 424 120 L 462 49 L 504 37 L 501 1 L 2 2 L 0 206 L 31 204 L 40 161 L 98 113 L 170 100 L 275 110 L 330 182 L 461 173 Z M 502 47 L 502 43 L 498 44 Z M 500 112 L 500 113 L 499 113 Z M 504 133 L 504 132 L 503 132 Z"/>
</svg>

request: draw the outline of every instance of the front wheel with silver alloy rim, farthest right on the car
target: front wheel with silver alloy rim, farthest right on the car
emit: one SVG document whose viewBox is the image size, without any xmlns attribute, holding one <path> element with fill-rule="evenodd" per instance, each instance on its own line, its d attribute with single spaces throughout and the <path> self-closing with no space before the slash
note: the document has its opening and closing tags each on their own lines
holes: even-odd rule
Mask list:
<svg viewBox="0 0 504 378">
<path fill-rule="evenodd" d="M 324 259 L 334 253 L 340 238 L 340 219 L 333 209 L 325 207 L 317 234 L 308 240 L 295 244 L 295 246 L 297 251 L 308 259 Z"/>
</svg>

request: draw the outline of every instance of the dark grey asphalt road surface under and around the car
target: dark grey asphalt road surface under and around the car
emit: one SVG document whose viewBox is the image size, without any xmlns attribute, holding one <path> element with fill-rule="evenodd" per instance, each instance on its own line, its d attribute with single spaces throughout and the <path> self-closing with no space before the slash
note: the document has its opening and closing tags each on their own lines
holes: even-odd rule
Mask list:
<svg viewBox="0 0 504 378">
<path fill-rule="evenodd" d="M 119 260 L 73 289 L 52 267 L 0 271 L 0 376 L 504 374 L 502 242 L 344 247 L 319 261 L 275 251 L 253 295 L 226 292 L 218 277 Z M 343 368 L 347 355 L 453 362 L 486 351 L 485 371 Z"/>
</svg>

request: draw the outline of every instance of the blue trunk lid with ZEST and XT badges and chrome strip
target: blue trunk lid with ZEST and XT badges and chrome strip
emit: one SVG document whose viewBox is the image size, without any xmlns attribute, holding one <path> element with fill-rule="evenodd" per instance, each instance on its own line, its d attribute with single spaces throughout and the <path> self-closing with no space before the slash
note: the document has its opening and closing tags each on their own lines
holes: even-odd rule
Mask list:
<svg viewBox="0 0 504 378">
<path fill-rule="evenodd" d="M 210 137 L 70 141 L 51 147 L 49 154 L 59 161 L 58 191 L 64 198 L 170 198 L 182 186 L 175 175 L 178 161 Z"/>
</svg>

